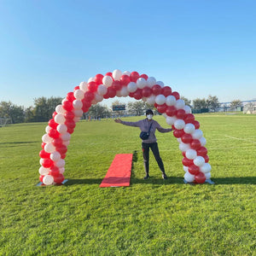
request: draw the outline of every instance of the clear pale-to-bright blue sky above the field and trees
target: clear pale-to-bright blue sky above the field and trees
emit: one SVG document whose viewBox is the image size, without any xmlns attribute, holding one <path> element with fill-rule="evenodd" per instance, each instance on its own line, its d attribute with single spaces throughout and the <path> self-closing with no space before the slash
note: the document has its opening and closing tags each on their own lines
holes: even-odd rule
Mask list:
<svg viewBox="0 0 256 256">
<path fill-rule="evenodd" d="M 191 101 L 256 99 L 255 13 L 254 0 L 0 0 L 0 102 L 64 98 L 114 69 Z"/>
</svg>

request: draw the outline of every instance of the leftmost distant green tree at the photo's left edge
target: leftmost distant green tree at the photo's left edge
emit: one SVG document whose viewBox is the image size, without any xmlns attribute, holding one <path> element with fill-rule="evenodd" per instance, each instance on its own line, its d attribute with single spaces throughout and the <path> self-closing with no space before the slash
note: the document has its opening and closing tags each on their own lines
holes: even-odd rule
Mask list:
<svg viewBox="0 0 256 256">
<path fill-rule="evenodd" d="M 13 124 L 23 123 L 24 107 L 17 106 L 12 102 L 0 102 L 0 117 L 10 118 Z"/>
</svg>

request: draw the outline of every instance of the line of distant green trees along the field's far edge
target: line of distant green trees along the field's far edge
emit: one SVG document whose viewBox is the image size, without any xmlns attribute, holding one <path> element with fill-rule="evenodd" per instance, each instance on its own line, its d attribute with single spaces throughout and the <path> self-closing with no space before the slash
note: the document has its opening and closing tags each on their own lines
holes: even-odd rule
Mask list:
<svg viewBox="0 0 256 256">
<path fill-rule="evenodd" d="M 193 109 L 208 109 L 209 111 L 215 112 L 219 107 L 217 96 L 208 96 L 206 98 L 196 98 L 192 102 L 184 96 L 181 97 L 186 105 Z M 52 113 L 55 112 L 55 107 L 61 104 L 61 97 L 50 97 L 44 96 L 34 99 L 34 106 L 24 108 L 17 106 L 12 102 L 0 102 L 0 118 L 9 118 L 11 123 L 29 123 L 29 122 L 47 122 L 52 118 Z M 122 102 L 113 102 L 113 105 L 120 105 Z M 241 106 L 241 101 L 235 100 L 231 102 L 231 107 Z M 128 102 L 126 104 L 125 111 L 113 112 L 108 106 L 103 106 L 100 103 L 92 105 L 87 113 L 84 113 L 83 118 L 109 118 L 113 115 L 142 115 L 148 108 L 154 108 L 147 102 L 136 101 Z"/>
</svg>

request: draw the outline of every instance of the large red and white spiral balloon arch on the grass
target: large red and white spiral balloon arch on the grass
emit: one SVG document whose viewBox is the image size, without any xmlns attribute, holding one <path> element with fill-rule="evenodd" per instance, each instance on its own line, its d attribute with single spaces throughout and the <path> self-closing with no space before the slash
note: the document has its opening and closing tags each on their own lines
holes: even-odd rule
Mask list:
<svg viewBox="0 0 256 256">
<path fill-rule="evenodd" d="M 64 181 L 64 159 L 76 123 L 91 105 L 114 96 L 142 99 L 166 117 L 166 123 L 172 125 L 173 135 L 177 137 L 183 154 L 186 182 L 204 183 L 211 177 L 212 167 L 208 163 L 207 148 L 204 147 L 206 139 L 199 129 L 200 123 L 177 91 L 146 74 L 122 73 L 116 69 L 113 73 L 106 73 L 105 76 L 96 74 L 87 83 L 80 83 L 73 92 L 67 93 L 61 105 L 56 106 L 42 137 L 43 149 L 39 153 L 39 179 L 42 183 L 51 185 Z"/>
</svg>

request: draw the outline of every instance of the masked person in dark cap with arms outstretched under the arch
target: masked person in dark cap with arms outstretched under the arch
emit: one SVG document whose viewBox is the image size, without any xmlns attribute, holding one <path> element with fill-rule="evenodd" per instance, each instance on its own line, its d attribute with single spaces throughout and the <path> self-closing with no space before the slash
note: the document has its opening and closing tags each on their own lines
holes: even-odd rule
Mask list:
<svg viewBox="0 0 256 256">
<path fill-rule="evenodd" d="M 162 172 L 162 177 L 166 179 L 167 176 L 165 172 L 165 167 L 162 159 L 160 158 L 159 148 L 156 142 L 157 139 L 154 133 L 156 129 L 160 132 L 169 132 L 169 131 L 172 131 L 172 128 L 165 129 L 161 127 L 157 121 L 153 120 L 153 115 L 154 115 L 153 111 L 151 109 L 148 109 L 146 111 L 146 117 L 147 117 L 146 119 L 139 120 L 137 122 L 125 122 L 125 121 L 122 121 L 121 119 L 115 119 L 114 121 L 122 125 L 139 127 L 141 131 L 148 132 L 150 130 L 149 137 L 147 139 L 143 139 L 143 144 L 142 144 L 144 168 L 146 172 L 146 176 L 144 177 L 144 179 L 147 179 L 149 177 L 149 148 L 151 148 L 154 154 L 154 158 L 157 161 L 158 166 L 160 167 L 160 171 Z"/>
</svg>

